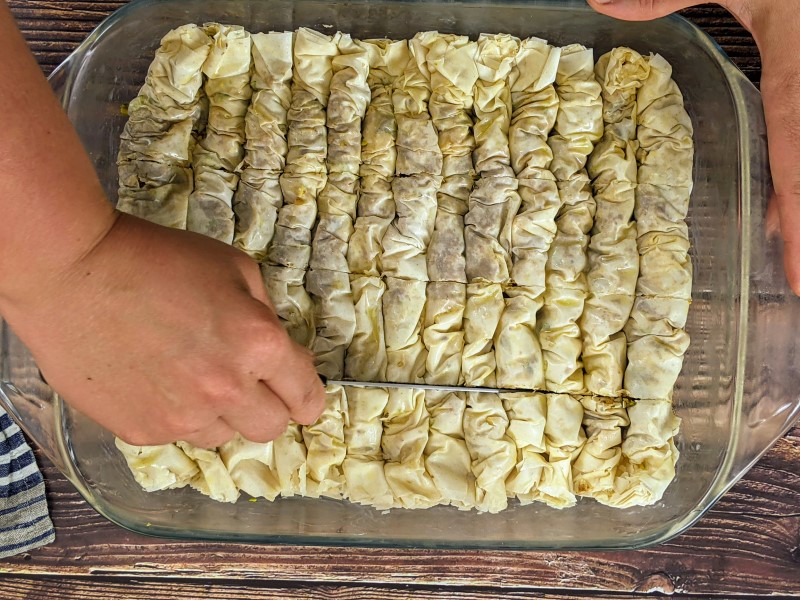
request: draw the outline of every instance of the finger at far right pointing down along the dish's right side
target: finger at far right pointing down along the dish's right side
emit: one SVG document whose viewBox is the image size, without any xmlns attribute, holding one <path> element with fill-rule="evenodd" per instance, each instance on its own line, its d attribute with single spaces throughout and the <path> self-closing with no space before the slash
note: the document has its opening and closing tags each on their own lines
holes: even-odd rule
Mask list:
<svg viewBox="0 0 800 600">
<path fill-rule="evenodd" d="M 800 72 L 765 61 L 761 93 L 784 267 L 789 285 L 800 295 Z"/>
</svg>

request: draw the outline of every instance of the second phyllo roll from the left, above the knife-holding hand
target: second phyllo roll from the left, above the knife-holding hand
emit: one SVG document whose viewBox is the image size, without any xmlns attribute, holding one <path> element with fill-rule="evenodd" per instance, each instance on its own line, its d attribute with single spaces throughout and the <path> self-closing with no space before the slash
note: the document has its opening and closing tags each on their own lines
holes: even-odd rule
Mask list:
<svg viewBox="0 0 800 600">
<path fill-rule="evenodd" d="M 186 228 L 226 243 L 233 242 L 233 193 L 236 169 L 244 157 L 244 121 L 253 89 L 250 34 L 239 26 L 211 24 L 211 52 L 203 64 L 208 96 L 205 136 L 192 155 L 194 191 L 189 196 Z"/>
</svg>

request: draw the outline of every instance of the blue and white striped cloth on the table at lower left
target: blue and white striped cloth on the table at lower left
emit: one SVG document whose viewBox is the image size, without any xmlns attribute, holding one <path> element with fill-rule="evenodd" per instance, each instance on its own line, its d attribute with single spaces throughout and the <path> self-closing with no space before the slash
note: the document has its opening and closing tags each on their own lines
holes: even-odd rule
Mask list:
<svg viewBox="0 0 800 600">
<path fill-rule="evenodd" d="M 0 558 L 53 540 L 36 459 L 17 424 L 0 408 Z"/>
</svg>

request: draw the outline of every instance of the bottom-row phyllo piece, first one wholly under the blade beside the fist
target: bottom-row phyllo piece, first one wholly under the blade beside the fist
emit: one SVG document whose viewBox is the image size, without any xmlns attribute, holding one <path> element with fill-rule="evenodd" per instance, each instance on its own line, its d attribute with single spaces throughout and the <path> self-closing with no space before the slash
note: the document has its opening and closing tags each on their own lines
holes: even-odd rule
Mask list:
<svg viewBox="0 0 800 600">
<path fill-rule="evenodd" d="M 394 495 L 384 473 L 383 422 L 389 392 L 382 388 L 347 388 L 344 440 L 347 456 L 342 463 L 344 495 L 350 502 L 392 508 Z"/>
</svg>

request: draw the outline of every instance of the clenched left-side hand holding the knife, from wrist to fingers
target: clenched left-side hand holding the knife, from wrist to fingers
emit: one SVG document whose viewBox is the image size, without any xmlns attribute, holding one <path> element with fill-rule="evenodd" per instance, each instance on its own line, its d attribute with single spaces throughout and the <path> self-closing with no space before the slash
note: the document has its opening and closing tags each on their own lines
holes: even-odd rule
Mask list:
<svg viewBox="0 0 800 600">
<path fill-rule="evenodd" d="M 129 443 L 265 442 L 322 410 L 310 353 L 234 248 L 119 215 L 45 281 L 4 316 L 48 382 Z"/>
</svg>

